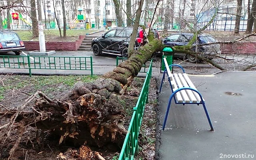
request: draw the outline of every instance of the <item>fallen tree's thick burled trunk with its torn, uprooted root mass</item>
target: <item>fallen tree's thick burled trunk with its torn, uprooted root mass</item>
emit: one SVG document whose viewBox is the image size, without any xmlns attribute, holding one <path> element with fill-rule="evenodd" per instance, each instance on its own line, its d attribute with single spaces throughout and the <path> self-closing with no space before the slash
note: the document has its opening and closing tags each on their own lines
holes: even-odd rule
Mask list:
<svg viewBox="0 0 256 160">
<path fill-rule="evenodd" d="M 123 124 L 127 121 L 126 104 L 120 99 L 120 95 L 124 94 L 142 64 L 161 48 L 162 42 L 153 40 L 140 50 L 132 51 L 128 60 L 102 78 L 94 82 L 76 83 L 72 91 L 60 100 L 50 99 L 44 93 L 36 92 L 18 110 L 0 112 L 1 117 L 10 119 L 0 129 L 7 128 L 9 132 L 6 137 L 10 137 L 10 131 L 18 128 L 19 137 L 22 137 L 25 127 L 35 127 L 59 137 L 59 144 L 68 142 L 76 147 L 81 146 L 76 153 L 67 151 L 64 154 L 82 156 L 82 159 L 100 159 L 97 158 L 100 155 L 92 152 L 88 146 L 120 150 L 126 136 Z M 14 125 L 16 122 L 19 125 Z M 18 139 L 9 152 L 9 159 L 19 143 Z M 63 157 L 68 159 L 63 154 L 58 159 Z"/>
</svg>

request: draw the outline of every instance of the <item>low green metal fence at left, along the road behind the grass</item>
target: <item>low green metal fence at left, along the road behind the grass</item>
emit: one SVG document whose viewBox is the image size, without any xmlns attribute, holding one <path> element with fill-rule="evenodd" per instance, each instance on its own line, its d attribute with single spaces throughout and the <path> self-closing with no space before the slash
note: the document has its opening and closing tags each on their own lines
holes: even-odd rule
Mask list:
<svg viewBox="0 0 256 160">
<path fill-rule="evenodd" d="M 0 56 L 0 68 L 46 70 L 92 70 L 92 56 L 66 57 L 66 56 Z"/>
</svg>

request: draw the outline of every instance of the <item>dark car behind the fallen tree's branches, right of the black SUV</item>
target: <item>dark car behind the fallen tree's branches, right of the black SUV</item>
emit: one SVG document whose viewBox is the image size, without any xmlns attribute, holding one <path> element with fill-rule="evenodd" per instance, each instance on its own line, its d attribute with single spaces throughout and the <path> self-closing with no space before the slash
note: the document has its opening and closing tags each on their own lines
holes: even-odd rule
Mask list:
<svg viewBox="0 0 256 160">
<path fill-rule="evenodd" d="M 168 46 L 184 46 L 187 45 L 190 39 L 193 37 L 191 33 L 177 33 L 171 34 L 163 39 L 163 44 Z M 215 43 L 217 40 L 210 35 L 200 35 L 198 36 L 197 44 L 209 44 Z M 196 44 L 193 44 L 196 46 Z M 196 47 L 192 48 L 192 51 L 196 51 Z M 212 59 L 214 58 L 214 54 L 221 54 L 220 44 L 209 44 L 204 46 L 198 46 L 197 52 L 201 52 L 201 56 Z M 190 56 L 189 54 L 184 53 L 175 53 L 174 57 L 178 58 L 187 58 L 189 62 L 195 63 L 197 62 L 197 58 L 194 56 Z"/>
</svg>

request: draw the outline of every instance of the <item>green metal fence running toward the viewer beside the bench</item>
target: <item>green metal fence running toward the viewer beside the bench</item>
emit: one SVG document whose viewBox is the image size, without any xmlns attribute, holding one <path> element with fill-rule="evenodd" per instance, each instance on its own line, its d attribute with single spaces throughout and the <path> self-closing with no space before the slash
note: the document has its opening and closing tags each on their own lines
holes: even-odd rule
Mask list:
<svg viewBox="0 0 256 160">
<path fill-rule="evenodd" d="M 146 79 L 140 92 L 136 107 L 133 108 L 134 112 L 132 114 L 130 126 L 124 139 L 124 144 L 118 160 L 133 160 L 134 155 L 138 153 L 138 135 L 140 132 L 140 125 L 142 123 L 145 104 L 148 103 L 148 88 L 151 75 L 152 60 L 150 62 Z"/>
</svg>

